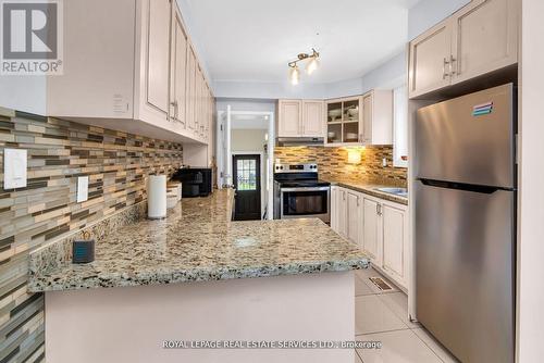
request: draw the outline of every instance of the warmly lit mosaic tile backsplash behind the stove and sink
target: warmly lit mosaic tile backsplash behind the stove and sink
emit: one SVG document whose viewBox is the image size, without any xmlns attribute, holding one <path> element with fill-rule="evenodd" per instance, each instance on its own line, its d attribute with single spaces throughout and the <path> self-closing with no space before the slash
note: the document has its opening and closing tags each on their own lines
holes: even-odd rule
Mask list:
<svg viewBox="0 0 544 363">
<path fill-rule="evenodd" d="M 361 162 L 348 163 L 348 151 L 361 152 Z M 387 166 L 382 166 L 382 159 Z M 345 179 L 370 184 L 406 187 L 407 170 L 393 166 L 393 147 L 276 147 L 274 159 L 283 163 L 317 162 L 319 175 L 329 179 Z"/>
</svg>

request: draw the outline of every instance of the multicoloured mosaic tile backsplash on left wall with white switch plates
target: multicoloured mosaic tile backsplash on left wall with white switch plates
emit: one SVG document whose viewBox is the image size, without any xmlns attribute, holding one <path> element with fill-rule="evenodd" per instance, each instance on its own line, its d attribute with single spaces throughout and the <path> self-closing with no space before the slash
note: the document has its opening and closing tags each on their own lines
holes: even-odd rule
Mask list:
<svg viewBox="0 0 544 363">
<path fill-rule="evenodd" d="M 3 189 L 3 150 L 28 150 L 26 188 Z M 28 253 L 146 199 L 146 178 L 183 164 L 181 143 L 0 109 L 0 362 L 41 362 L 44 297 Z M 76 179 L 89 199 L 76 203 Z"/>
</svg>

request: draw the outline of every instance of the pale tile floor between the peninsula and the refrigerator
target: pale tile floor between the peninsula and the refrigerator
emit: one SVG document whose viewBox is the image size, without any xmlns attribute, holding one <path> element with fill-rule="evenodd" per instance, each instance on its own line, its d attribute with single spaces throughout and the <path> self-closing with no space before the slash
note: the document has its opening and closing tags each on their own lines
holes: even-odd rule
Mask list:
<svg viewBox="0 0 544 363">
<path fill-rule="evenodd" d="M 357 349 L 356 363 L 457 363 L 418 323 L 408 320 L 408 298 L 398 289 L 381 291 L 370 279 L 373 268 L 356 272 L 356 340 L 381 341 L 381 349 Z M 392 287 L 393 284 L 390 283 Z"/>
</svg>

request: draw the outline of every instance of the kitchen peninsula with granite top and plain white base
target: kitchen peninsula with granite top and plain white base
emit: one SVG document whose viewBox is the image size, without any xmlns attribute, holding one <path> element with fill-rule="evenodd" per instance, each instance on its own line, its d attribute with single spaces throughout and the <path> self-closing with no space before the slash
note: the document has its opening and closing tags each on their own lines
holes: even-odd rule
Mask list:
<svg viewBox="0 0 544 363">
<path fill-rule="evenodd" d="M 354 338 L 353 270 L 368 266 L 364 253 L 314 218 L 232 222 L 232 197 L 184 199 L 165 220 L 116 228 L 90 264 L 72 264 L 66 241 L 35 251 L 29 287 L 46 292 L 49 360 L 353 361 L 350 349 L 163 349 Z"/>
</svg>

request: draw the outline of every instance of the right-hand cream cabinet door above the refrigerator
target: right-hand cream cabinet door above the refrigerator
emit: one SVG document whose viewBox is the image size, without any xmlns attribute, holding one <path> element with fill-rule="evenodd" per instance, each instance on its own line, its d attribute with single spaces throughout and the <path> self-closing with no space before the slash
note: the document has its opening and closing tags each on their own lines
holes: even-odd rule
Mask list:
<svg viewBox="0 0 544 363">
<path fill-rule="evenodd" d="M 516 0 L 480 0 L 454 15 L 455 82 L 517 63 L 517 10 Z"/>
</svg>

